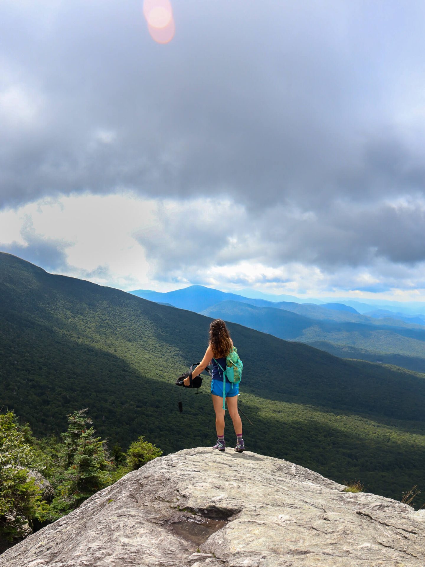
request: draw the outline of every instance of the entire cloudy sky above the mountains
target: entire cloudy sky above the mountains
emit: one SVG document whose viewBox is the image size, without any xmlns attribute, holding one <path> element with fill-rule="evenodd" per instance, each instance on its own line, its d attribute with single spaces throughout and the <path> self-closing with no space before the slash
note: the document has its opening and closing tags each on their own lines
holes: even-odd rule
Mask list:
<svg viewBox="0 0 425 567">
<path fill-rule="evenodd" d="M 424 22 L 0 0 L 0 251 L 126 291 L 425 301 Z"/>
</svg>

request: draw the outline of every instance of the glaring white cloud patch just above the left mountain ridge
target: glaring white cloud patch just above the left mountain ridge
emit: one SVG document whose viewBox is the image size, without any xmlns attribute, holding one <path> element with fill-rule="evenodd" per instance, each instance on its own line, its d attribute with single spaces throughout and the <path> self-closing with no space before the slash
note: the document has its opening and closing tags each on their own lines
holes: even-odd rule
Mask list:
<svg viewBox="0 0 425 567">
<path fill-rule="evenodd" d="M 31 219 L 39 238 L 69 244 L 67 266 L 60 266 L 59 273 L 133 289 L 147 283 L 148 264 L 132 233 L 150 226 L 152 208 L 152 201 L 130 194 L 41 200 L 16 211 L 0 211 L 0 243 L 3 249 L 14 242 L 24 245 L 25 223 Z"/>
</svg>

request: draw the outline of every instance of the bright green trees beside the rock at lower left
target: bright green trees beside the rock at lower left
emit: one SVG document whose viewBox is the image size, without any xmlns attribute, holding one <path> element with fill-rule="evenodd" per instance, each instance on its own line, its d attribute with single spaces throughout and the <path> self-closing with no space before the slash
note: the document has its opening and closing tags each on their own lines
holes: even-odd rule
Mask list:
<svg viewBox="0 0 425 567">
<path fill-rule="evenodd" d="M 98 490 L 162 451 L 143 436 L 124 453 L 96 437 L 87 409 L 75 411 L 59 439 L 37 439 L 13 412 L 0 414 L 0 553 L 78 507 Z M 41 477 L 40 477 L 41 475 Z"/>
</svg>

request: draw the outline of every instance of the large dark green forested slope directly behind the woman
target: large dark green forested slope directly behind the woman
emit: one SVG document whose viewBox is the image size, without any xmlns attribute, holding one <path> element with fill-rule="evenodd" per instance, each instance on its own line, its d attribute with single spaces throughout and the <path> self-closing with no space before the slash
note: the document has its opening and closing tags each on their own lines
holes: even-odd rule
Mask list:
<svg viewBox="0 0 425 567">
<path fill-rule="evenodd" d="M 176 377 L 205 352 L 210 319 L 123 291 L 46 273 L 0 253 L 0 398 L 37 435 L 88 408 L 97 432 L 127 447 L 146 435 L 165 453 L 214 441 L 209 379 Z M 250 449 L 337 481 L 401 498 L 425 488 L 425 376 L 346 361 L 230 324 L 244 361 Z M 233 437 L 231 425 L 226 435 Z"/>
</svg>

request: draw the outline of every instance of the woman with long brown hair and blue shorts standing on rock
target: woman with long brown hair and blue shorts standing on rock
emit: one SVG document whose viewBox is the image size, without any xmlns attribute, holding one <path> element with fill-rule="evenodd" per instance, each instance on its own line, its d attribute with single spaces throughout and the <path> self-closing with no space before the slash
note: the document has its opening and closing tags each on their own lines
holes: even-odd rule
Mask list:
<svg viewBox="0 0 425 567">
<path fill-rule="evenodd" d="M 211 394 L 215 411 L 215 429 L 217 431 L 217 442 L 213 449 L 219 451 L 226 450 L 224 441 L 224 409 L 223 409 L 223 369 L 226 370 L 226 357 L 233 348 L 233 341 L 230 338 L 226 323 L 222 319 L 216 319 L 210 325 L 210 341 L 202 362 L 194 369 L 192 378 L 196 378 L 210 363 L 213 364 L 213 379 L 211 380 Z M 221 366 L 221 368 L 220 368 Z M 189 378 L 184 380 L 185 386 L 189 386 Z M 233 386 L 233 388 L 232 388 Z M 232 384 L 226 378 L 226 401 L 227 409 L 233 421 L 236 433 L 235 451 L 245 450 L 242 438 L 242 421 L 237 412 L 237 395 L 239 384 Z"/>
</svg>

